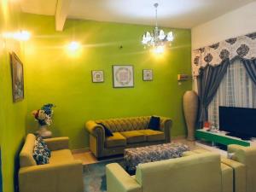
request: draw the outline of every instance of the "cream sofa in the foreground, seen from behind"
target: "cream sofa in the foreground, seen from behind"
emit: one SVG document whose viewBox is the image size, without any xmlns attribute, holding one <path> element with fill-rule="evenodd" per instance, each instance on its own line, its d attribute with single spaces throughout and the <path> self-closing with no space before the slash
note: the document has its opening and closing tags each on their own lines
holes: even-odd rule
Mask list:
<svg viewBox="0 0 256 192">
<path fill-rule="evenodd" d="M 108 164 L 108 192 L 233 192 L 233 171 L 220 155 L 187 154 L 137 166 L 130 176 L 119 164 Z"/>
</svg>

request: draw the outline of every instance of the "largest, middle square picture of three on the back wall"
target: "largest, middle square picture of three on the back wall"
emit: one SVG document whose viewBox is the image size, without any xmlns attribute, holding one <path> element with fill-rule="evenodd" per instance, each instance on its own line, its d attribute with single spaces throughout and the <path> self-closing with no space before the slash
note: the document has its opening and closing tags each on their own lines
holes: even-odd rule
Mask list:
<svg viewBox="0 0 256 192">
<path fill-rule="evenodd" d="M 125 88 L 133 86 L 133 66 L 113 66 L 113 87 Z"/>
</svg>

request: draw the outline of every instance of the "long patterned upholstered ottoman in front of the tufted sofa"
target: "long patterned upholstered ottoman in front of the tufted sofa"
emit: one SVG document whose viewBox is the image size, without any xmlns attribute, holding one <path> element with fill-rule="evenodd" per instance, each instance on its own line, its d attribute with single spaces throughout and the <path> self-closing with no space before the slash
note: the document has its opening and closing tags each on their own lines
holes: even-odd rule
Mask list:
<svg viewBox="0 0 256 192">
<path fill-rule="evenodd" d="M 126 148 L 124 154 L 126 171 L 133 174 L 140 163 L 181 157 L 189 147 L 182 143 L 165 143 L 141 148 Z"/>
</svg>

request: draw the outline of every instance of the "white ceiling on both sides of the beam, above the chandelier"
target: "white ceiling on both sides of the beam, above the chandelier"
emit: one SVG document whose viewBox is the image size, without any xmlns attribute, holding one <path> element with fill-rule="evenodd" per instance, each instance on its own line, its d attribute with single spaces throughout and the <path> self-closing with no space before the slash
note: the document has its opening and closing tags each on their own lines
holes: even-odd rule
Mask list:
<svg viewBox="0 0 256 192">
<path fill-rule="evenodd" d="M 67 17 L 154 25 L 154 3 L 159 3 L 159 25 L 191 28 L 255 0 L 72 0 Z M 23 12 L 55 15 L 57 0 L 21 0 Z"/>
</svg>

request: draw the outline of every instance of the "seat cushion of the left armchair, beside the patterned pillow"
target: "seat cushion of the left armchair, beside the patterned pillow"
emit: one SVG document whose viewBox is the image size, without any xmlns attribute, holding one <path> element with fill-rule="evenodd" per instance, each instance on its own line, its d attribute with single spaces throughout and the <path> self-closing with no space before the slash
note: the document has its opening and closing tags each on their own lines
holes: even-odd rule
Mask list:
<svg viewBox="0 0 256 192">
<path fill-rule="evenodd" d="M 51 152 L 51 157 L 49 158 L 50 164 L 64 163 L 72 161 L 73 155 L 69 149 L 61 149 Z"/>
</svg>

